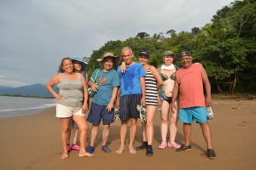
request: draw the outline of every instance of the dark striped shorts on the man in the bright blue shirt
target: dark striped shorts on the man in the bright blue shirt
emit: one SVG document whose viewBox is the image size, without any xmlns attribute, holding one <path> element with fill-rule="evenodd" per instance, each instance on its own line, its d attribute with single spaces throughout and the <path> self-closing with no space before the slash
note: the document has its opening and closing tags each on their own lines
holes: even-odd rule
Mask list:
<svg viewBox="0 0 256 170">
<path fill-rule="evenodd" d="M 141 94 L 124 95 L 120 98 L 120 119 L 128 121 L 130 118 L 138 118 L 137 105 L 141 105 Z"/>
</svg>

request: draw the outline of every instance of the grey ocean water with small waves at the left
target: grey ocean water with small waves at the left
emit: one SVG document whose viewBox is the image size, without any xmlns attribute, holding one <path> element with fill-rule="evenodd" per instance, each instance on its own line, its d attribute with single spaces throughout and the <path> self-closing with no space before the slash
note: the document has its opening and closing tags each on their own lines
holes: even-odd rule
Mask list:
<svg viewBox="0 0 256 170">
<path fill-rule="evenodd" d="M 0 118 L 29 115 L 55 105 L 55 99 L 0 96 Z"/>
</svg>

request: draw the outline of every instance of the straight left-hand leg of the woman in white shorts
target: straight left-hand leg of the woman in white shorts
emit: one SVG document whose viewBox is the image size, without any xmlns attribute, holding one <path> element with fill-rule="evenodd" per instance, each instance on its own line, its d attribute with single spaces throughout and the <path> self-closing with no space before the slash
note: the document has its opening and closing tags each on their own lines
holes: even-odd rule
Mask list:
<svg viewBox="0 0 256 170">
<path fill-rule="evenodd" d="M 61 118 L 61 144 L 62 144 L 62 159 L 68 158 L 68 151 L 67 151 L 67 135 L 69 129 L 71 117 Z"/>
</svg>

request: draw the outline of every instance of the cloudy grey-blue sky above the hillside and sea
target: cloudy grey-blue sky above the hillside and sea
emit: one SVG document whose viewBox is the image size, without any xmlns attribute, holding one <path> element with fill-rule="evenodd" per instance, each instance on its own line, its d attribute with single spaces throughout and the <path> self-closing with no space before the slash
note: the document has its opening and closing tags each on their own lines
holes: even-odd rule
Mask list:
<svg viewBox="0 0 256 170">
<path fill-rule="evenodd" d="M 45 84 L 62 58 L 90 57 L 106 42 L 124 41 L 138 32 L 153 36 L 201 28 L 232 2 L 0 0 L 0 86 Z"/>
</svg>

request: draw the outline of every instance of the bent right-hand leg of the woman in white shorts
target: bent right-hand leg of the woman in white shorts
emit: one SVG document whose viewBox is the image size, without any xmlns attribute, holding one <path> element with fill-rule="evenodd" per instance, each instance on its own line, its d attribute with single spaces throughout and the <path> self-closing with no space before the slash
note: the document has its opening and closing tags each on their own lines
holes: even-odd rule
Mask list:
<svg viewBox="0 0 256 170">
<path fill-rule="evenodd" d="M 85 121 L 85 117 L 79 116 L 79 115 L 73 115 L 73 120 L 78 124 L 79 130 L 80 130 L 79 156 L 94 156 L 93 154 L 89 154 L 85 152 L 85 144 L 86 144 L 86 137 L 87 137 L 87 131 L 88 131 L 88 125 L 87 125 L 87 122 Z"/>
</svg>

